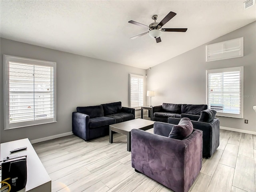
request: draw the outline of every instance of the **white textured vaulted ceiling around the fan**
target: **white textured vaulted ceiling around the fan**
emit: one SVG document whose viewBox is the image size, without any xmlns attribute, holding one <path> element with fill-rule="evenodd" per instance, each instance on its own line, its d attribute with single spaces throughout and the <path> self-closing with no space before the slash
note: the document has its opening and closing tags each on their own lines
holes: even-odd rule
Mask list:
<svg viewBox="0 0 256 192">
<path fill-rule="evenodd" d="M 0 1 L 1 37 L 147 69 L 256 20 L 256 6 L 244 0 L 169 1 Z M 152 15 L 160 22 L 177 13 L 164 28 L 162 42 L 148 34 Z"/>
</svg>

